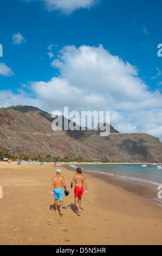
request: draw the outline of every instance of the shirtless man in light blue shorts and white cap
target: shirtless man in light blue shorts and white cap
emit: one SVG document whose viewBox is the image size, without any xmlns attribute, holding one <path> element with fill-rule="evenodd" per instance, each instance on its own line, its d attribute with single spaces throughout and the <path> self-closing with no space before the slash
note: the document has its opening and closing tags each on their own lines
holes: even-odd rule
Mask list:
<svg viewBox="0 0 162 256">
<path fill-rule="evenodd" d="M 62 213 L 62 205 L 63 205 L 63 188 L 66 190 L 66 185 L 64 182 L 63 176 L 60 175 L 61 170 L 56 170 L 56 176 L 52 178 L 51 181 L 51 195 L 55 198 L 55 209 L 57 212 L 57 205 L 58 205 L 58 199 L 60 201 L 60 215 L 63 215 Z"/>
</svg>

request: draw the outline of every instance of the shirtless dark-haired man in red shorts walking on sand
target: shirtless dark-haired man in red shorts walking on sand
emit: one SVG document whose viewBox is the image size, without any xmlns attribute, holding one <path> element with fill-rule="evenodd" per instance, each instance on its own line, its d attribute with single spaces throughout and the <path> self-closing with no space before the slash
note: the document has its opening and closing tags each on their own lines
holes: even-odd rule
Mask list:
<svg viewBox="0 0 162 256">
<path fill-rule="evenodd" d="M 77 215 L 80 216 L 80 206 L 81 206 L 81 199 L 84 191 L 83 185 L 85 184 L 86 188 L 86 195 L 88 194 L 87 190 L 87 181 L 85 176 L 82 174 L 82 169 L 77 168 L 76 174 L 73 177 L 73 180 L 71 182 L 71 188 L 73 187 L 73 183 L 75 182 L 75 188 L 74 188 L 74 197 L 75 197 L 75 204 L 77 207 Z"/>
</svg>

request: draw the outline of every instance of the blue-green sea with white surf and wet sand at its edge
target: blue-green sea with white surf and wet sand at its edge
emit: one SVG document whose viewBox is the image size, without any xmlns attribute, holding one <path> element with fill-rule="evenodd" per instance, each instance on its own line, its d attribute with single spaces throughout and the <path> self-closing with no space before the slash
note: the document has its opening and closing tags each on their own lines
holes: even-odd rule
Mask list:
<svg viewBox="0 0 162 256">
<path fill-rule="evenodd" d="M 146 167 L 141 164 L 72 164 L 71 167 L 80 167 L 83 172 L 162 206 L 162 199 L 158 198 L 158 188 L 162 185 L 162 169 L 151 164 Z"/>
</svg>

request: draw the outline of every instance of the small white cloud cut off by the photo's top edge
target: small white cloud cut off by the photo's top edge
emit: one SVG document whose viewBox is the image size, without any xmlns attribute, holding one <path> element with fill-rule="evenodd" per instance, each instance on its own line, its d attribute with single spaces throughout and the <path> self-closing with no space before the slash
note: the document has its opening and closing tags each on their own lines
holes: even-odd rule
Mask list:
<svg viewBox="0 0 162 256">
<path fill-rule="evenodd" d="M 100 0 L 25 0 L 29 1 L 39 1 L 44 4 L 44 7 L 49 11 L 59 10 L 64 14 L 71 14 L 73 11 L 80 8 L 90 8 Z"/>
</svg>

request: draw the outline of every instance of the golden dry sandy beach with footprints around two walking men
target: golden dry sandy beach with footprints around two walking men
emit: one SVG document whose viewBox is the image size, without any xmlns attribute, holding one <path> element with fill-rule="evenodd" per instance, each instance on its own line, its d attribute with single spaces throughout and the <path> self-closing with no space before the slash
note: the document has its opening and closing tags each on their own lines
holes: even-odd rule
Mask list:
<svg viewBox="0 0 162 256">
<path fill-rule="evenodd" d="M 68 197 L 63 216 L 51 196 L 54 164 L 0 165 L 0 245 L 161 245 L 162 208 L 85 174 L 88 195 L 76 214 L 74 169 L 60 166 Z M 84 174 L 84 173 L 83 173 Z"/>
</svg>

